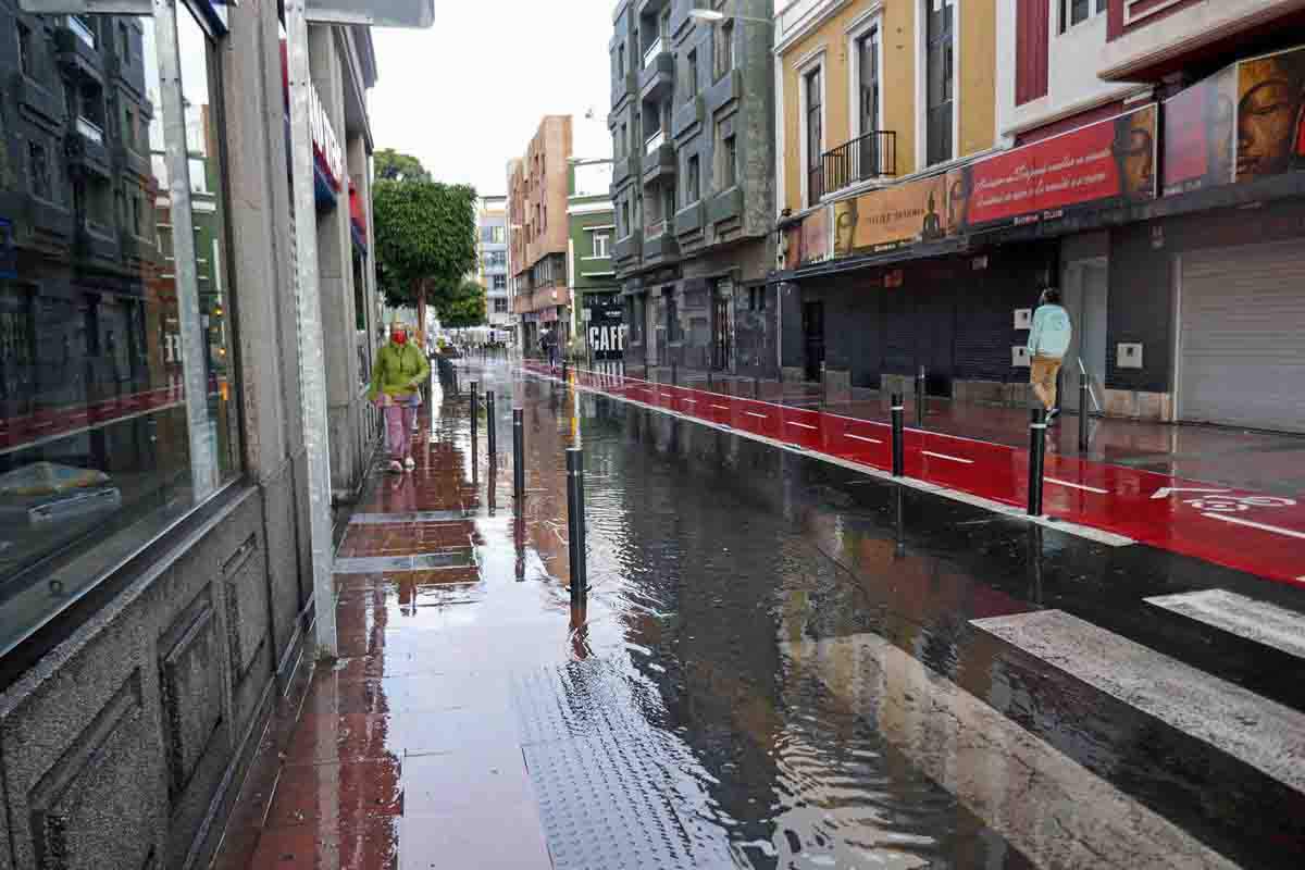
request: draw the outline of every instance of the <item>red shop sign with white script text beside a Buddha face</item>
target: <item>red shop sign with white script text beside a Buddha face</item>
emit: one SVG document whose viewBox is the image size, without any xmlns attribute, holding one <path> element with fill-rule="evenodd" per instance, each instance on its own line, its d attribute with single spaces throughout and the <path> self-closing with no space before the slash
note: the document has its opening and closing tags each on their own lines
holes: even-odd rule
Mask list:
<svg viewBox="0 0 1305 870">
<path fill-rule="evenodd" d="M 959 233 L 1064 217 L 1070 206 L 1155 197 L 1154 104 L 947 172 Z"/>
</svg>

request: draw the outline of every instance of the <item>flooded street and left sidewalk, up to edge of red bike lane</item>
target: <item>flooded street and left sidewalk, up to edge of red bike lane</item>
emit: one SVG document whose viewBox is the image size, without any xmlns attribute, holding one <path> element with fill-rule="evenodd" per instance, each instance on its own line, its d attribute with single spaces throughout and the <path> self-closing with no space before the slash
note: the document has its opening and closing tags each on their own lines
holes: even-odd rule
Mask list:
<svg viewBox="0 0 1305 870">
<path fill-rule="evenodd" d="M 437 391 L 418 471 L 341 545 L 342 657 L 278 713 L 215 866 L 1300 866 L 1300 590 L 472 377 L 497 463 Z"/>
</svg>

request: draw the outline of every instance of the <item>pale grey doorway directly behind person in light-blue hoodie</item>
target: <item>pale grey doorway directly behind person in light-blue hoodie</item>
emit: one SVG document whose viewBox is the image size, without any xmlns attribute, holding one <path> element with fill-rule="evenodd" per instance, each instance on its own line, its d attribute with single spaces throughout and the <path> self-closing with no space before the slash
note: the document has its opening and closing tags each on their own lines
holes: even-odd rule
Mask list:
<svg viewBox="0 0 1305 870">
<path fill-rule="evenodd" d="M 1065 353 L 1061 377 L 1061 407 L 1078 411 L 1078 390 L 1083 376 L 1079 359 L 1087 369 L 1087 382 L 1096 402 L 1105 403 L 1105 330 L 1109 299 L 1109 261 L 1105 257 L 1075 260 L 1065 263 L 1061 280 L 1065 310 L 1074 325 L 1074 337 Z M 1096 406 L 1091 406 L 1095 411 Z"/>
</svg>

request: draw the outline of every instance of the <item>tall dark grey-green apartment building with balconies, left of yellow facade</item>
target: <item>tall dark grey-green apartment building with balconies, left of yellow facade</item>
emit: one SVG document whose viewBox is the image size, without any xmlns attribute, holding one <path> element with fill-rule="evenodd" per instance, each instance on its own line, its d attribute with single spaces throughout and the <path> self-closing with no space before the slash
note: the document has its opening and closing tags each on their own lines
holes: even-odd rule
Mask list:
<svg viewBox="0 0 1305 870">
<path fill-rule="evenodd" d="M 613 13 L 608 128 L 625 357 L 774 376 L 771 5 L 736 0 L 720 21 L 692 14 L 699 7 L 622 0 Z"/>
</svg>

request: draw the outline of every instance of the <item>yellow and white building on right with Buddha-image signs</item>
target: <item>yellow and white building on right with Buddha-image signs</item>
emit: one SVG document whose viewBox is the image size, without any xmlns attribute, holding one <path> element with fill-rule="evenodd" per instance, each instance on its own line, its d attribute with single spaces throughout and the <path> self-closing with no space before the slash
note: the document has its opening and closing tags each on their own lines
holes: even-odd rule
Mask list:
<svg viewBox="0 0 1305 870">
<path fill-rule="evenodd" d="M 886 390 L 924 369 L 933 395 L 1021 404 L 1028 317 L 1058 286 L 1066 407 L 1086 377 L 1109 415 L 1305 430 L 1280 387 L 1305 312 L 1298 18 L 1270 1 L 792 4 L 786 365 Z M 1289 97 L 1261 106 L 1270 91 Z"/>
</svg>

